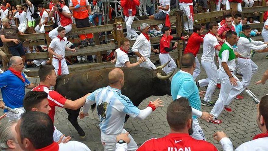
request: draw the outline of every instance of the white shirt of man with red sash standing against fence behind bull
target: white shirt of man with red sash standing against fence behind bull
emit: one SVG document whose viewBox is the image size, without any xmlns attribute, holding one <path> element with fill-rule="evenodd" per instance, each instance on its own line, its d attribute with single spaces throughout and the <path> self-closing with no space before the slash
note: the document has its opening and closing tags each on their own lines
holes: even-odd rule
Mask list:
<svg viewBox="0 0 268 151">
<path fill-rule="evenodd" d="M 64 37 L 63 39 L 65 41 L 63 41 L 63 40 L 60 41 L 60 39 L 58 37 L 54 38 L 51 41 L 49 47 L 52 48 L 56 54 L 59 54 L 64 58 L 64 56 L 65 56 L 65 48 L 66 48 L 66 44 L 67 44 L 68 41 L 67 41 L 66 37 Z M 53 55 L 53 57 L 57 58 L 54 55 Z"/>
</svg>

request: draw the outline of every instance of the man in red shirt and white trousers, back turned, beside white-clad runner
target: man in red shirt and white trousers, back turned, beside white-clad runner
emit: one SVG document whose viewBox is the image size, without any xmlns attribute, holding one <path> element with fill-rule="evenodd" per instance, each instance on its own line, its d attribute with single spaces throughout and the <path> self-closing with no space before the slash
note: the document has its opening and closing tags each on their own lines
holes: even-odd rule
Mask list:
<svg viewBox="0 0 268 151">
<path fill-rule="evenodd" d="M 200 70 L 200 63 L 199 63 L 199 60 L 198 60 L 196 54 L 199 52 L 200 45 L 204 41 L 205 35 L 203 35 L 203 31 L 204 31 L 204 29 L 202 28 L 201 25 L 195 25 L 193 33 L 190 36 L 190 38 L 187 42 L 186 48 L 184 50 L 184 54 L 185 53 L 192 53 L 195 56 L 196 69 L 194 70 L 194 73 L 193 73 L 194 80 L 196 80 L 196 77 L 199 76 L 200 71 L 201 71 Z"/>
</svg>

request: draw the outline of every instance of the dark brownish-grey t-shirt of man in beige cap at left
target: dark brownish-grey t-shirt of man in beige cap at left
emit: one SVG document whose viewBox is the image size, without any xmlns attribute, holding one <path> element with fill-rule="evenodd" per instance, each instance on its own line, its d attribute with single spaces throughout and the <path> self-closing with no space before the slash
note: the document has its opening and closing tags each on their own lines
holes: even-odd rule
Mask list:
<svg viewBox="0 0 268 151">
<path fill-rule="evenodd" d="M 18 27 L 16 26 L 11 26 L 10 28 L 2 28 L 0 30 L 0 36 L 1 35 L 5 35 L 5 38 L 6 39 L 18 39 L 19 40 L 19 37 L 18 37 L 18 32 L 19 32 L 19 29 Z M 19 40 L 20 42 L 20 40 Z M 7 42 L 6 43 L 9 47 L 11 46 L 16 46 L 17 44 L 13 41 L 11 42 Z"/>
</svg>

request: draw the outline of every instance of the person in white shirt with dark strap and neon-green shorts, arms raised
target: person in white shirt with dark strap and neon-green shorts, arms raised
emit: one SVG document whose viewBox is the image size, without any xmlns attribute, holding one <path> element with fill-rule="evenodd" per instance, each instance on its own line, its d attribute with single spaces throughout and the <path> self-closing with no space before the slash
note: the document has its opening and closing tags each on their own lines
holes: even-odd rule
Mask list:
<svg viewBox="0 0 268 151">
<path fill-rule="evenodd" d="M 28 27 L 29 27 L 29 33 L 36 33 L 34 31 L 34 27 L 35 27 L 35 19 L 33 17 L 34 14 L 34 6 L 33 4 L 30 2 L 30 0 L 26 0 L 25 3 L 22 4 L 23 8 L 26 8 L 27 10 L 27 20 L 28 20 Z M 24 10 L 24 9 L 23 9 Z"/>
</svg>

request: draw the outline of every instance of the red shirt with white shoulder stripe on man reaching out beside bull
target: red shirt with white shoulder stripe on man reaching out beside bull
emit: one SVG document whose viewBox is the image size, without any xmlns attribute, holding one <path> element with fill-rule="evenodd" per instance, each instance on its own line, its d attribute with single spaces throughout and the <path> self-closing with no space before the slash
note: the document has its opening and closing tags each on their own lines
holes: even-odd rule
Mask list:
<svg viewBox="0 0 268 151">
<path fill-rule="evenodd" d="M 67 99 L 61 94 L 59 94 L 57 91 L 49 90 L 49 88 L 45 85 L 38 85 L 37 87 L 33 88 L 32 91 L 44 91 L 48 93 L 48 105 L 51 107 L 48 116 L 54 123 L 55 106 L 63 107 Z"/>
</svg>

